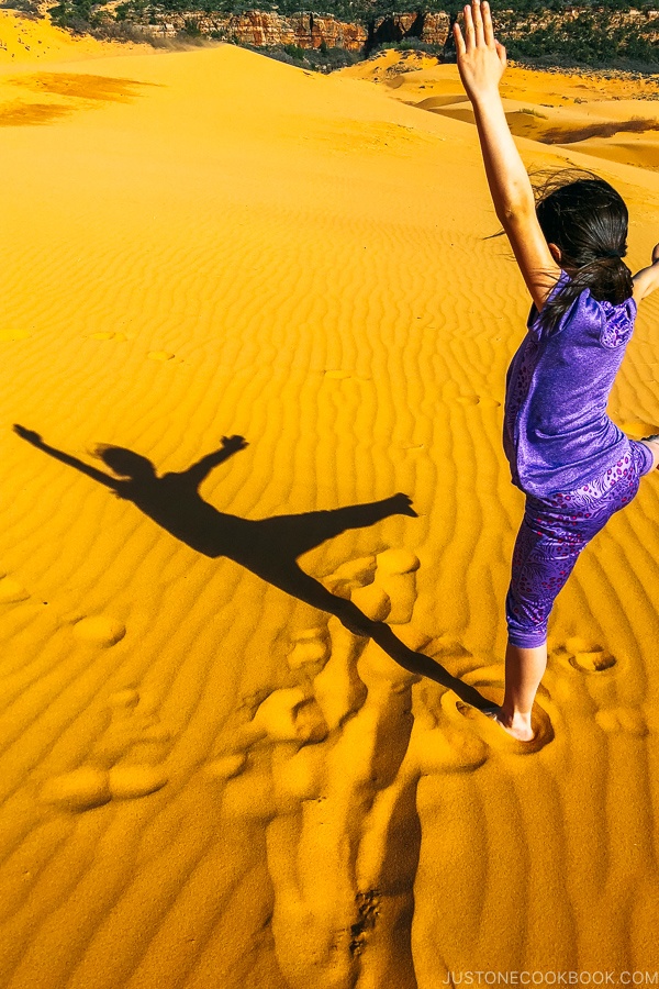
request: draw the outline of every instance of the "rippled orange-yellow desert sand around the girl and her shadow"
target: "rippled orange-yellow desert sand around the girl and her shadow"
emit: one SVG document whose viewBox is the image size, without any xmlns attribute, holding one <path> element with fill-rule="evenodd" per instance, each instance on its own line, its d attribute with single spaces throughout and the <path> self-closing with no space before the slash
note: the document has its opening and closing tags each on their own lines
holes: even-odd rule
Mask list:
<svg viewBox="0 0 659 989">
<path fill-rule="evenodd" d="M 528 307 L 473 125 L 232 46 L 85 58 L 0 71 L 2 986 L 654 973 L 656 479 L 560 597 L 537 743 L 466 703 Z M 614 181 L 647 263 L 656 171 L 520 147 Z"/>
</svg>

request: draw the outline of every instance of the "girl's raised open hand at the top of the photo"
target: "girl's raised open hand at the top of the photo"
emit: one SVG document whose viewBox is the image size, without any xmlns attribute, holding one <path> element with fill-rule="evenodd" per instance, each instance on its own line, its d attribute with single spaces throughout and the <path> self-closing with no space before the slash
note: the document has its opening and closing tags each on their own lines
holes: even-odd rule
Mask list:
<svg viewBox="0 0 659 989">
<path fill-rule="evenodd" d="M 471 0 L 465 8 L 465 36 L 458 23 L 454 24 L 454 37 L 458 54 L 458 70 L 467 96 L 478 97 L 499 91 L 499 80 L 506 64 L 505 48 L 494 37 L 490 4 Z"/>
</svg>

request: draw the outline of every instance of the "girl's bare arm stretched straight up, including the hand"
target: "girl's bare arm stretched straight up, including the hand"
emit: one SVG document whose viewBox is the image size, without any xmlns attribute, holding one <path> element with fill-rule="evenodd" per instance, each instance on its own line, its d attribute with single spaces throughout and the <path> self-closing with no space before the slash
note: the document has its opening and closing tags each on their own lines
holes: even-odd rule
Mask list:
<svg viewBox="0 0 659 989">
<path fill-rule="evenodd" d="M 511 134 L 499 95 L 505 48 L 494 38 L 490 5 L 465 8 L 465 36 L 454 25 L 458 69 L 471 100 L 485 175 L 496 215 L 505 230 L 538 311 L 560 276 L 540 230 L 530 180 Z"/>
</svg>

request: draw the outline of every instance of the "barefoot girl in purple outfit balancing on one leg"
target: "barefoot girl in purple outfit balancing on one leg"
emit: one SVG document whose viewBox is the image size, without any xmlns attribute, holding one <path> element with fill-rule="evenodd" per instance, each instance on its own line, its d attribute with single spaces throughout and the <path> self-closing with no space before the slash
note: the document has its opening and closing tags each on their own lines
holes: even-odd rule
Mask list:
<svg viewBox="0 0 659 989">
<path fill-rule="evenodd" d="M 506 378 L 504 448 L 526 509 L 506 598 L 504 699 L 492 712 L 529 742 L 554 600 L 583 547 L 659 465 L 659 436 L 629 440 L 606 414 L 636 305 L 659 286 L 659 244 L 632 278 L 627 209 L 594 175 L 559 177 L 536 208 L 499 95 L 506 57 L 489 4 L 472 0 L 465 34 L 457 24 L 454 34 L 496 215 L 533 299 Z"/>
</svg>

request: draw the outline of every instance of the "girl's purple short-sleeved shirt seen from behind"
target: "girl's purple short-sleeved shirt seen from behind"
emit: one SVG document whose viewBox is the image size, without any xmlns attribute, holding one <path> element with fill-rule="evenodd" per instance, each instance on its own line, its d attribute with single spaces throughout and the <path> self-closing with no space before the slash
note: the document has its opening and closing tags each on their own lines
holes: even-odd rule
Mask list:
<svg viewBox="0 0 659 989">
<path fill-rule="evenodd" d="M 561 274 L 551 296 L 566 284 Z M 604 474 L 628 440 L 606 414 L 634 330 L 636 303 L 597 302 L 584 289 L 551 333 L 532 307 L 507 370 L 503 446 L 513 484 L 535 498 Z"/>
</svg>

